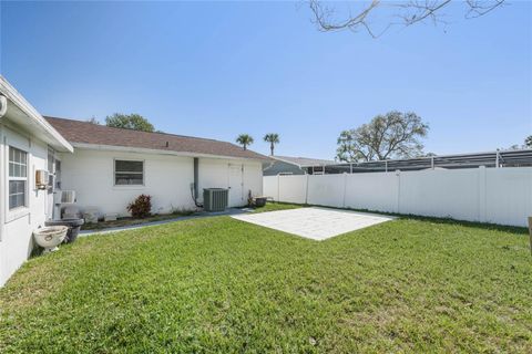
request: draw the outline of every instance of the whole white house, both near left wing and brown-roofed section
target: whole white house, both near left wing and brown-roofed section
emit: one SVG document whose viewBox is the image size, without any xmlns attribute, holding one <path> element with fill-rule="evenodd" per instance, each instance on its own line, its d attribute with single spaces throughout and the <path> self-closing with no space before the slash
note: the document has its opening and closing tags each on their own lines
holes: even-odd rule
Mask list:
<svg viewBox="0 0 532 354">
<path fill-rule="evenodd" d="M 127 215 L 141 194 L 152 212 L 195 207 L 191 189 L 228 188 L 229 207 L 263 192 L 265 156 L 231 143 L 43 117 L 0 76 L 0 287 L 33 250 L 32 232 L 59 218 L 58 195 Z M 37 175 L 48 171 L 48 187 Z"/>
</svg>

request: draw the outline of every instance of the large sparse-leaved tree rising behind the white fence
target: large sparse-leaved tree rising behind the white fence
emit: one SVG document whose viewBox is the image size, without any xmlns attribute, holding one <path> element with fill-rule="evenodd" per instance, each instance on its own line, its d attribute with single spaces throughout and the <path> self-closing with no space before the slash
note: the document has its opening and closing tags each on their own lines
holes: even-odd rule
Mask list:
<svg viewBox="0 0 532 354">
<path fill-rule="evenodd" d="M 368 124 L 344 131 L 338 137 L 337 158 L 340 162 L 371 162 L 421 156 L 429 125 L 416 113 L 389 112 Z"/>
</svg>

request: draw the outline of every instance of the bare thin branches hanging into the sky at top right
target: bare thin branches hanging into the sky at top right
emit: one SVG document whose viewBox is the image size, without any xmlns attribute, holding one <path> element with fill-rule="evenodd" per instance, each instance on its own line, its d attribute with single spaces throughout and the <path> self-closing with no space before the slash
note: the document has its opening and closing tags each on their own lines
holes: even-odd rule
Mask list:
<svg viewBox="0 0 532 354">
<path fill-rule="evenodd" d="M 463 9 L 466 19 L 480 18 L 504 4 L 505 0 L 466 0 L 457 1 Z M 409 27 L 427 21 L 434 25 L 452 22 L 446 9 L 451 0 L 360 0 L 348 2 L 328 2 L 309 0 L 314 22 L 318 30 L 357 32 L 362 30 L 378 38 L 393 25 Z M 382 22 L 379 25 L 379 22 Z"/>
</svg>

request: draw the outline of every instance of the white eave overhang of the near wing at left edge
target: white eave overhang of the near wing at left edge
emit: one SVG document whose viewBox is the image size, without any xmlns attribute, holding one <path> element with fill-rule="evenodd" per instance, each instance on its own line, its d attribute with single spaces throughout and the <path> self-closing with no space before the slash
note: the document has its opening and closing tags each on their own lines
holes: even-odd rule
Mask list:
<svg viewBox="0 0 532 354">
<path fill-rule="evenodd" d="M 0 75 L 0 95 L 6 97 L 0 101 L 1 121 L 7 121 L 32 137 L 52 146 L 58 152 L 72 153 L 73 146 L 55 131 L 37 110 Z"/>
</svg>

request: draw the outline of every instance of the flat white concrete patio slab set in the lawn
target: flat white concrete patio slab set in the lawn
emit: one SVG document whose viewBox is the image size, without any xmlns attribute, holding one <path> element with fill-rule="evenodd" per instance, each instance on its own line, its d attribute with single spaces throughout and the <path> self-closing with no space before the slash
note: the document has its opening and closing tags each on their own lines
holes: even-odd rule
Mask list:
<svg viewBox="0 0 532 354">
<path fill-rule="evenodd" d="M 317 207 L 236 215 L 232 218 L 318 241 L 395 219 L 377 214 Z"/>
</svg>

